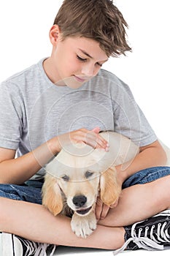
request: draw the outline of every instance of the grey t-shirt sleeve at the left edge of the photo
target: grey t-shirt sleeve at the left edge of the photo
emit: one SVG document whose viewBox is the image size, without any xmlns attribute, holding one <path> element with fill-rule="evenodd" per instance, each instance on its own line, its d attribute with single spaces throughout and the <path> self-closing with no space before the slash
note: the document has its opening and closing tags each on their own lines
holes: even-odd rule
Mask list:
<svg viewBox="0 0 170 256">
<path fill-rule="evenodd" d="M 22 135 L 22 110 L 15 85 L 0 85 L 0 147 L 17 149 Z"/>
</svg>

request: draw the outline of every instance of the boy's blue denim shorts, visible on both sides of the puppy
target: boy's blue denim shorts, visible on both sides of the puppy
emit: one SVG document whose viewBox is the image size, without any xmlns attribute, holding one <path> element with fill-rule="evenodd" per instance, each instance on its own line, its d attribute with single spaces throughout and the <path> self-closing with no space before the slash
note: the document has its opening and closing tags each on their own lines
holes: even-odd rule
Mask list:
<svg viewBox="0 0 170 256">
<path fill-rule="evenodd" d="M 170 175 L 170 167 L 151 167 L 140 170 L 123 183 L 123 189 L 136 184 L 145 184 L 155 181 L 158 178 Z M 0 197 L 7 197 L 14 200 L 23 200 L 30 203 L 42 204 L 42 184 L 39 181 L 28 181 L 23 185 L 0 184 Z"/>
</svg>

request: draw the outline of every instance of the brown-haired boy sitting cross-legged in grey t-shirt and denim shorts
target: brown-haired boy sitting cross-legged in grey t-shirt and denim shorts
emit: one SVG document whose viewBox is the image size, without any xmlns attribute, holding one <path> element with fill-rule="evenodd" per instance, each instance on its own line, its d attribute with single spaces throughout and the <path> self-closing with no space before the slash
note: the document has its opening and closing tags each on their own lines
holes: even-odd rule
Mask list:
<svg viewBox="0 0 170 256">
<path fill-rule="evenodd" d="M 166 154 L 128 86 L 101 69 L 109 56 L 131 50 L 125 26 L 110 0 L 65 0 L 50 29 L 51 56 L 1 84 L 4 255 L 45 255 L 46 249 L 53 255 L 50 244 L 103 249 L 125 242 L 129 249 L 143 242 L 145 249 L 169 244 L 169 211 L 161 212 L 170 206 Z M 72 141 L 109 150 L 101 130 L 131 138 L 140 154 L 125 170 L 117 166 L 123 193 L 115 208 L 98 198 L 97 229 L 87 239 L 77 238 L 69 218 L 53 217 L 42 206 L 45 164 Z"/>
</svg>

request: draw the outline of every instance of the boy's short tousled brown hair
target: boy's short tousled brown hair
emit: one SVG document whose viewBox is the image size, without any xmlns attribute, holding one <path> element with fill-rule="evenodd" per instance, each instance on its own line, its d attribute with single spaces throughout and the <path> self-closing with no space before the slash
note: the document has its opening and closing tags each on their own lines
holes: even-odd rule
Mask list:
<svg viewBox="0 0 170 256">
<path fill-rule="evenodd" d="M 125 55 L 131 50 L 125 38 L 128 24 L 112 0 L 64 0 L 54 24 L 58 24 L 63 39 L 95 39 L 107 56 Z"/>
</svg>

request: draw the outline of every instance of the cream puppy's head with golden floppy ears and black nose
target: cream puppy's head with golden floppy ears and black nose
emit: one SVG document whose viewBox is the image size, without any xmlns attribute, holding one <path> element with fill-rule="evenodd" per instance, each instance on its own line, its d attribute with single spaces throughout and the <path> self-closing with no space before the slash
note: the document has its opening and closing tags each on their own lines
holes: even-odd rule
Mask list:
<svg viewBox="0 0 170 256">
<path fill-rule="evenodd" d="M 107 152 L 88 149 L 89 154 L 81 155 L 62 149 L 46 166 L 42 203 L 54 215 L 62 211 L 65 202 L 77 214 L 89 214 L 93 211 L 99 190 L 101 200 L 108 206 L 115 203 L 120 195 L 115 169 L 106 163 Z"/>
</svg>

